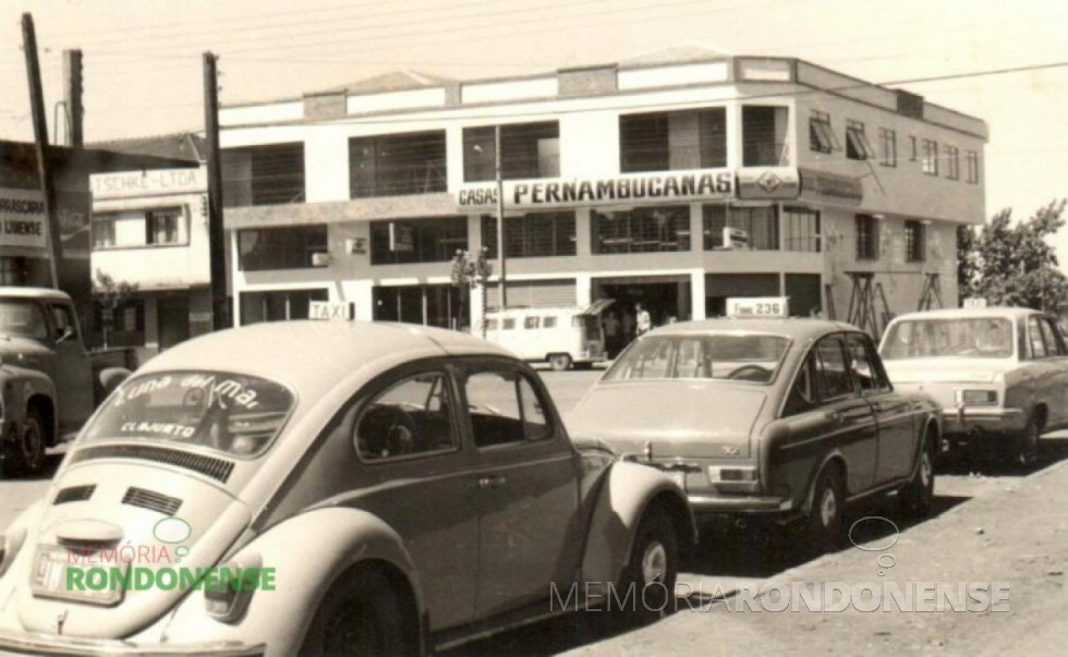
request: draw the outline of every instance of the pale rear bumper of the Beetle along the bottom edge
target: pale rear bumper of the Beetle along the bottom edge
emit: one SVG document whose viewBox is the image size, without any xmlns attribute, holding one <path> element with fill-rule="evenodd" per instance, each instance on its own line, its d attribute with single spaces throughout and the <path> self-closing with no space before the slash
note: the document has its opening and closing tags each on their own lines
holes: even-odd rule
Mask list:
<svg viewBox="0 0 1068 657">
<path fill-rule="evenodd" d="M 208 642 L 184 644 L 143 644 L 108 638 L 78 638 L 0 630 L 0 650 L 15 655 L 263 655 L 264 644 Z"/>
</svg>

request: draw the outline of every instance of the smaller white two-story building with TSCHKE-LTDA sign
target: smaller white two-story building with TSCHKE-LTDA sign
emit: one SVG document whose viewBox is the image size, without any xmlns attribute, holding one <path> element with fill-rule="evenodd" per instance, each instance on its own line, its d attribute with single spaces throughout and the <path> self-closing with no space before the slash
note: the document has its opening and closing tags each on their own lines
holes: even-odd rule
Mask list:
<svg viewBox="0 0 1068 657">
<path fill-rule="evenodd" d="M 136 290 L 118 307 L 95 309 L 95 338 L 149 357 L 211 330 L 204 137 L 180 133 L 109 142 L 128 154 L 199 166 L 126 170 L 90 178 L 92 268 Z M 110 317 L 102 317 L 104 314 Z"/>
</svg>

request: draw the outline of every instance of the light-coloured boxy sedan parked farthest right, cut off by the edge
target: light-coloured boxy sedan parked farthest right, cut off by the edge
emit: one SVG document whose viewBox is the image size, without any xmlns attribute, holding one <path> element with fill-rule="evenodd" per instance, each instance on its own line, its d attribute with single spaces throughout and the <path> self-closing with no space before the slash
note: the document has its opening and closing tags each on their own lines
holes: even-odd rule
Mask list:
<svg viewBox="0 0 1068 657">
<path fill-rule="evenodd" d="M 1039 311 L 901 315 L 879 354 L 895 386 L 937 401 L 950 453 L 993 445 L 1006 462 L 1030 465 L 1039 436 L 1068 426 L 1068 349 L 1055 318 Z"/>
</svg>

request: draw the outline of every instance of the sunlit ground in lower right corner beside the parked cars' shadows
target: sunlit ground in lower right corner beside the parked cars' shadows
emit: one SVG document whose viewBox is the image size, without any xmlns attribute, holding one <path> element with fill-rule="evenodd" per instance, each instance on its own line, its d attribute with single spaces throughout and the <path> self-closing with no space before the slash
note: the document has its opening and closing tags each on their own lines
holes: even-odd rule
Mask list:
<svg viewBox="0 0 1068 657">
<path fill-rule="evenodd" d="M 758 598 L 755 611 L 728 598 L 700 610 L 694 604 L 693 611 L 683 605 L 651 626 L 572 654 L 1000 656 L 1068 650 L 1068 461 L 1007 485 L 1004 494 L 970 500 L 910 527 L 896 545 L 884 547 L 891 540 L 864 545 L 876 551 L 849 547 L 824 556 L 764 586 L 789 591 L 794 583 L 893 582 L 905 591 L 910 583 L 946 583 L 956 591 L 959 583 L 1002 582 L 1008 584 L 1008 611 L 990 611 L 990 605 L 986 611 L 900 611 L 883 604 L 867 612 L 852 607 L 806 611 L 804 606 L 774 612 L 761 609 Z"/>
</svg>

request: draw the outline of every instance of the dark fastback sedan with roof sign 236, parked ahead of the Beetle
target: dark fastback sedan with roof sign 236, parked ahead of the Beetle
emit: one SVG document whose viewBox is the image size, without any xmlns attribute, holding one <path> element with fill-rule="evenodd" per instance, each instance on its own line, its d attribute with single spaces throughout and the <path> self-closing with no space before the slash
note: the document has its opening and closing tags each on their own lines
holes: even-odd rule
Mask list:
<svg viewBox="0 0 1068 657">
<path fill-rule="evenodd" d="M 803 516 L 826 547 L 847 502 L 898 490 L 911 509 L 927 507 L 939 413 L 894 389 L 854 327 L 726 318 L 633 342 L 569 427 L 671 473 L 699 519 Z"/>
</svg>

